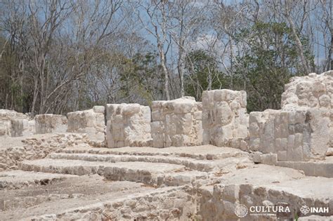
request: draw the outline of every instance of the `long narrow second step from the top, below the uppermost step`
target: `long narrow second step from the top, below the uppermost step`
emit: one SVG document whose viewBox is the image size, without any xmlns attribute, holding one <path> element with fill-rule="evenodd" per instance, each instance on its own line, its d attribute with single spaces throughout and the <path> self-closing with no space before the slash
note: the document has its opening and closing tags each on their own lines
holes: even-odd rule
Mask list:
<svg viewBox="0 0 333 221">
<path fill-rule="evenodd" d="M 52 153 L 48 155 L 50 159 L 70 159 L 80 161 L 105 161 L 105 162 L 149 162 L 149 163 L 171 163 L 183 165 L 192 170 L 209 172 L 217 166 L 218 161 L 203 161 L 192 158 L 176 156 L 145 156 L 145 155 L 117 155 L 117 154 L 65 154 Z"/>
</svg>

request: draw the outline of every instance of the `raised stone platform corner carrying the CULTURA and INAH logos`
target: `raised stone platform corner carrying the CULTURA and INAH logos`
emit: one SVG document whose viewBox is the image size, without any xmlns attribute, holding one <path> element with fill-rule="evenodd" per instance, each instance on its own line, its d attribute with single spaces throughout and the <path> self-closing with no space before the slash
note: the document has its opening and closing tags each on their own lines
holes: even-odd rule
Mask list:
<svg viewBox="0 0 333 221">
<path fill-rule="evenodd" d="M 260 181 L 263 183 L 260 184 Z M 329 216 L 333 215 L 332 178 L 304 177 L 273 183 L 266 183 L 263 180 L 256 180 L 256 182 L 256 184 L 221 182 L 214 187 L 211 185 L 199 187 L 198 195 L 201 197 L 200 202 L 202 203 L 200 203 L 197 215 L 204 217 L 205 220 L 239 220 L 234 213 L 237 203 L 248 209 L 247 216 L 241 220 L 294 220 L 296 213 L 299 217 L 305 216 L 300 212 L 302 206 L 325 209 L 324 213 L 315 214 L 322 216 L 320 217 L 322 219 L 318 220 L 329 220 Z M 250 210 L 252 206 L 283 206 L 283 208 L 288 207 L 289 211 L 285 210 L 285 212 L 277 214 L 272 210 L 267 213 L 266 210 L 266 213 L 260 213 L 260 211 L 256 213 Z M 211 211 L 211 213 L 207 213 L 207 211 Z M 302 220 L 306 220 L 306 218 Z"/>
</svg>

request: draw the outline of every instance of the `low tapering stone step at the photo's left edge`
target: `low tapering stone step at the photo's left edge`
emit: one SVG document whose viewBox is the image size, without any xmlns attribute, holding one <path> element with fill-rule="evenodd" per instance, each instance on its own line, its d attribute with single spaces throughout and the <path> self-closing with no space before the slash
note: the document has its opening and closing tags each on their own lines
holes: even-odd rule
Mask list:
<svg viewBox="0 0 333 221">
<path fill-rule="evenodd" d="M 20 189 L 22 187 L 51 185 L 68 178 L 77 178 L 77 175 L 36 173 L 23 170 L 0 172 L 1 189 Z"/>
</svg>

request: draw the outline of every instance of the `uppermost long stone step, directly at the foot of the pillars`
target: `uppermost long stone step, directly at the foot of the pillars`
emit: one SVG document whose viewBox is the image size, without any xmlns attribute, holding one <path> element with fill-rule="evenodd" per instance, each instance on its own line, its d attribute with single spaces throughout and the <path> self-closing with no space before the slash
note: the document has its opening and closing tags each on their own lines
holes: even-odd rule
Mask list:
<svg viewBox="0 0 333 221">
<path fill-rule="evenodd" d="M 115 154 L 115 155 L 135 155 L 135 156 L 178 156 L 200 160 L 226 159 L 228 157 L 249 156 L 247 152 L 230 147 L 215 147 L 213 145 L 193 146 L 193 147 L 70 147 L 59 149 L 57 152 L 67 154 Z"/>
</svg>

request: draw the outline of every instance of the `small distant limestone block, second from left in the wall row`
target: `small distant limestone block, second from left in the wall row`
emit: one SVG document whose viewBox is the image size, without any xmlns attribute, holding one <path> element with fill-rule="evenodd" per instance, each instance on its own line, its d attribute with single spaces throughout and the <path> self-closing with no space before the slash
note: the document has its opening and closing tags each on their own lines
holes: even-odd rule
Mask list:
<svg viewBox="0 0 333 221">
<path fill-rule="evenodd" d="M 60 114 L 39 114 L 34 117 L 36 133 L 66 133 L 67 117 Z"/>
</svg>

